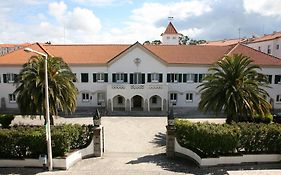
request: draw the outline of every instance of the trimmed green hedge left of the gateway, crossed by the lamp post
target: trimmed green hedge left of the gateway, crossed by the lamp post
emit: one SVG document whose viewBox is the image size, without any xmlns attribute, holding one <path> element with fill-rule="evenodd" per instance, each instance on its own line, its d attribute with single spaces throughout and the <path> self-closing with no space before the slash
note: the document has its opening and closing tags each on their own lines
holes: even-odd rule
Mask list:
<svg viewBox="0 0 281 175">
<path fill-rule="evenodd" d="M 65 124 L 51 127 L 53 156 L 88 146 L 92 125 Z M 14 126 L 0 129 L 0 158 L 38 158 L 47 154 L 45 126 Z"/>
</svg>

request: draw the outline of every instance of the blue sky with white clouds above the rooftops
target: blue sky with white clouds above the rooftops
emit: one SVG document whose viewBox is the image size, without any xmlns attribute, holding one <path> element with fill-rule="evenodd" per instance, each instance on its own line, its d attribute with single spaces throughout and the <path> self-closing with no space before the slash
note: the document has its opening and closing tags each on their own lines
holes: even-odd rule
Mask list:
<svg viewBox="0 0 281 175">
<path fill-rule="evenodd" d="M 221 40 L 281 31 L 281 0 L 0 0 L 0 43 L 133 44 L 179 33 Z"/>
</svg>

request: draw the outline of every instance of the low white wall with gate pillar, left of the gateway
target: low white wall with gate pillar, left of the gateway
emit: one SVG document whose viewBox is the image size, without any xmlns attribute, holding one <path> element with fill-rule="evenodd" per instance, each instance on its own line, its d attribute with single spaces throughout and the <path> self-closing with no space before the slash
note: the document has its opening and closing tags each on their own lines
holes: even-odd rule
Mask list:
<svg viewBox="0 0 281 175">
<path fill-rule="evenodd" d="M 64 158 L 53 158 L 53 168 L 67 170 L 74 164 L 88 157 L 102 156 L 102 130 L 103 127 L 97 127 L 94 130 L 94 137 L 90 145 L 86 148 L 74 151 Z M 42 160 L 38 159 L 0 159 L 0 167 L 43 167 Z"/>
</svg>

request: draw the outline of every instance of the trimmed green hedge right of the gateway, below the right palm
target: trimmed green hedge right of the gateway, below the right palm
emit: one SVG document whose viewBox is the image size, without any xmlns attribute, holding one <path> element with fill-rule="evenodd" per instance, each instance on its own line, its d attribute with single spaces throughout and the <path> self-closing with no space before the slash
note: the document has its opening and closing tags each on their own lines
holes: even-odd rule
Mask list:
<svg viewBox="0 0 281 175">
<path fill-rule="evenodd" d="M 263 123 L 191 123 L 177 120 L 179 144 L 201 157 L 281 153 L 281 125 Z"/>
</svg>

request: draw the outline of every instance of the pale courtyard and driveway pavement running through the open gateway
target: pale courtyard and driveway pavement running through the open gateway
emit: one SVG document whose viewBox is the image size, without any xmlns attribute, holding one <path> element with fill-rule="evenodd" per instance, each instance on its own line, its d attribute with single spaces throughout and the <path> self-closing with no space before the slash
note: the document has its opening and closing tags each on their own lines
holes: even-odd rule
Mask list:
<svg viewBox="0 0 281 175">
<path fill-rule="evenodd" d="M 193 121 L 198 121 L 194 119 Z M 206 121 L 206 119 L 200 119 Z M 222 123 L 224 120 L 211 119 Z M 13 124 L 42 124 L 43 120 L 17 117 Z M 92 123 L 91 117 L 58 118 L 55 123 Z M 281 164 L 246 164 L 199 168 L 186 159 L 165 156 L 166 117 L 103 117 L 105 154 L 78 162 L 68 171 L 41 168 L 0 168 L 0 174 L 38 175 L 277 175 Z"/>
</svg>

